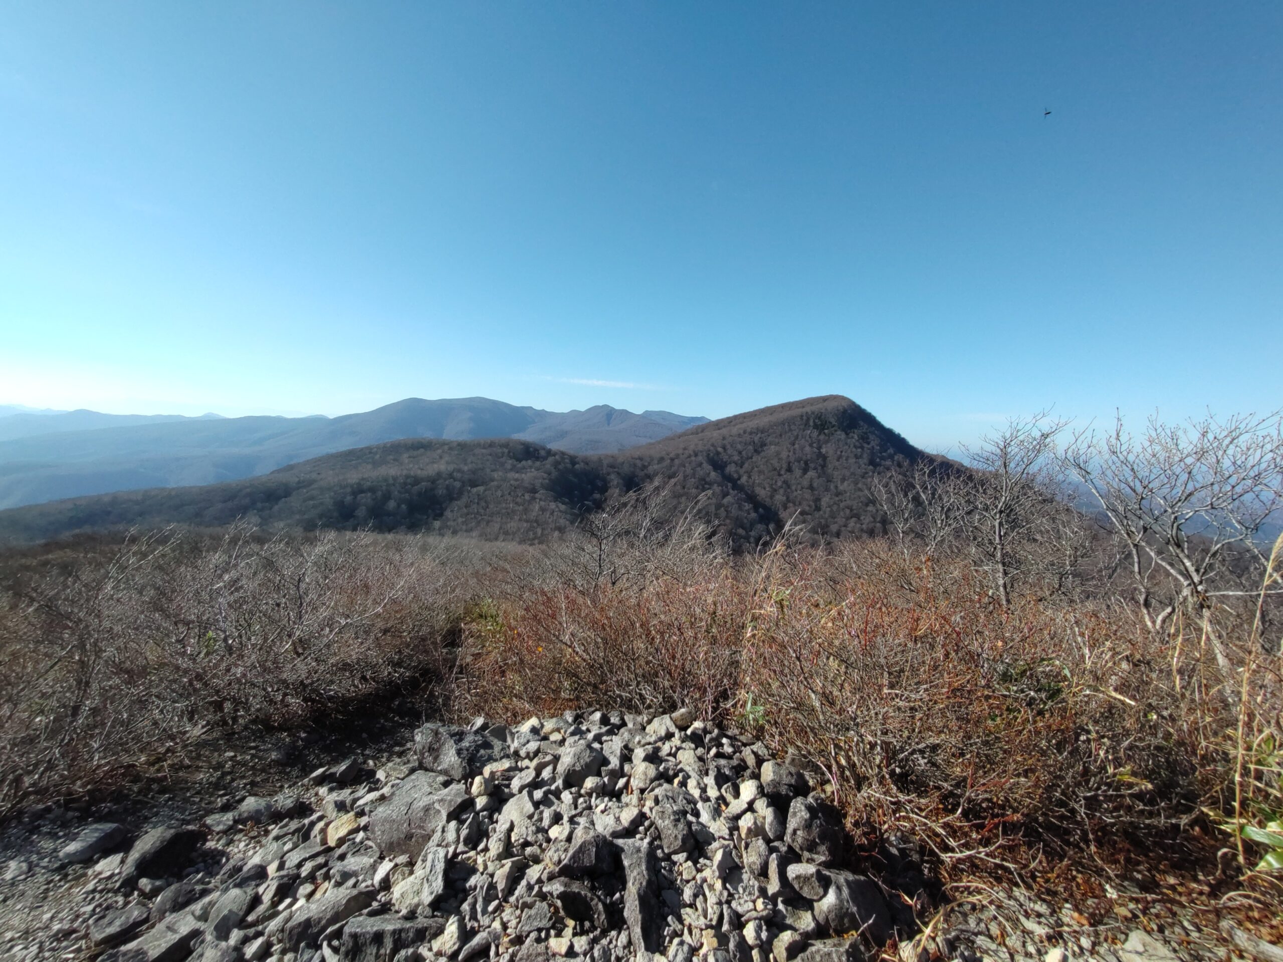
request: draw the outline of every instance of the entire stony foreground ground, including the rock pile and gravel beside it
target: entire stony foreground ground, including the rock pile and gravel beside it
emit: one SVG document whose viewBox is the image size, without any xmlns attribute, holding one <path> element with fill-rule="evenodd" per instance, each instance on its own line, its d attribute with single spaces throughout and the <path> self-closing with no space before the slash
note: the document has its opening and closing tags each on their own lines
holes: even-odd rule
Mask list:
<svg viewBox="0 0 1283 962">
<path fill-rule="evenodd" d="M 1102 886 L 1094 908 L 985 886 L 938 909 L 911 841 L 857 852 L 812 788 L 689 712 L 427 725 L 213 814 L 10 826 L 0 958 L 1279 957 L 1152 885 Z"/>
</svg>

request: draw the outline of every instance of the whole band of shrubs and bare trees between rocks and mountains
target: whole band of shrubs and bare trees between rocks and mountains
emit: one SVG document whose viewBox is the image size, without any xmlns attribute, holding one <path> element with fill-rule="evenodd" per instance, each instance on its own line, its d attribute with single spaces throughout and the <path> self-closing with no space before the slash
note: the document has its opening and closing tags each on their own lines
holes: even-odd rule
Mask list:
<svg viewBox="0 0 1283 962">
<path fill-rule="evenodd" d="M 0 803 L 391 693 L 507 720 L 690 705 L 946 877 L 1224 849 L 1269 891 L 1280 450 L 1277 421 L 1033 419 L 973 453 L 983 471 L 881 471 L 879 537 L 786 527 L 757 550 L 654 484 L 520 550 L 242 526 L 13 550 Z"/>
</svg>

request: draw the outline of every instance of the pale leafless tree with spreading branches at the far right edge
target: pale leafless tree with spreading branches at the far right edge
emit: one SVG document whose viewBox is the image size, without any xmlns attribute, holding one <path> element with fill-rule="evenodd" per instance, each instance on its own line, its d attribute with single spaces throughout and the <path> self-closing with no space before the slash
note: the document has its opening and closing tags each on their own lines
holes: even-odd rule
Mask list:
<svg viewBox="0 0 1283 962">
<path fill-rule="evenodd" d="M 1119 416 L 1112 431 L 1080 432 L 1064 463 L 1119 540 L 1151 630 L 1182 605 L 1206 616 L 1218 599 L 1260 591 L 1234 570 L 1264 570 L 1261 528 L 1283 509 L 1278 412 L 1183 425 L 1152 416 L 1139 437 Z"/>
</svg>

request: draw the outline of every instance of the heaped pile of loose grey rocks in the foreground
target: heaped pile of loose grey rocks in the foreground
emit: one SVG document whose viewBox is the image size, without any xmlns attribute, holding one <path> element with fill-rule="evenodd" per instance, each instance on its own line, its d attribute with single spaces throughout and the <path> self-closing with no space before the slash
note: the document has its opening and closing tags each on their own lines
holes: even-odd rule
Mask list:
<svg viewBox="0 0 1283 962">
<path fill-rule="evenodd" d="M 688 711 L 477 720 L 63 858 L 117 893 L 86 920 L 104 962 L 862 958 L 912 916 L 811 788 Z"/>
</svg>

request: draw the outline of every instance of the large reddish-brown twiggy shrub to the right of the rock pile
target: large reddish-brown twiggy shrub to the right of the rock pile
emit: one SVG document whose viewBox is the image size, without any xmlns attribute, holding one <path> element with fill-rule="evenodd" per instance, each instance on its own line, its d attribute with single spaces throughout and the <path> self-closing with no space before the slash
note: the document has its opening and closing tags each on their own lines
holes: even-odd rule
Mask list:
<svg viewBox="0 0 1283 962">
<path fill-rule="evenodd" d="M 1170 836 L 1197 811 L 1197 726 L 1148 632 L 1087 605 L 1003 605 L 958 561 L 852 553 L 763 570 L 742 677 L 763 736 L 857 822 L 911 831 L 946 871 L 1029 871 L 1043 847 Z M 858 573 L 816 571 L 834 561 Z"/>
</svg>

